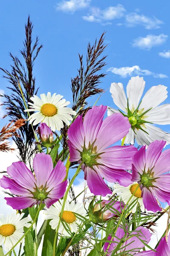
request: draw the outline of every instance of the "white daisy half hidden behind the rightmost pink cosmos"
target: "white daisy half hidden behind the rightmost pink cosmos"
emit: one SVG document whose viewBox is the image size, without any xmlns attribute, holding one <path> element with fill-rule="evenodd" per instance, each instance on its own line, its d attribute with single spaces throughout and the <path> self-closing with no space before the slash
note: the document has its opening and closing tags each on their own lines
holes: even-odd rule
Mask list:
<svg viewBox="0 0 170 256">
<path fill-rule="evenodd" d="M 121 186 L 119 184 L 115 184 L 114 185 L 115 189 L 114 189 L 113 192 L 118 195 L 119 200 L 122 198 L 122 201 L 124 201 L 124 203 L 127 204 L 127 201 L 133 195 L 133 193 L 135 192 L 138 185 L 139 184 L 137 182 L 134 182 L 134 183 L 130 184 L 127 187 Z M 137 191 L 135 192 L 135 194 L 133 195 L 132 199 L 129 202 L 129 204 L 131 204 L 137 199 L 136 204 L 134 205 L 134 207 L 132 209 L 132 213 L 136 212 L 136 208 L 138 207 L 138 203 L 141 207 L 141 211 L 144 212 L 144 204 L 143 204 L 143 199 L 142 199 L 141 194 L 142 194 L 142 191 L 139 187 L 137 189 Z"/>
</svg>

